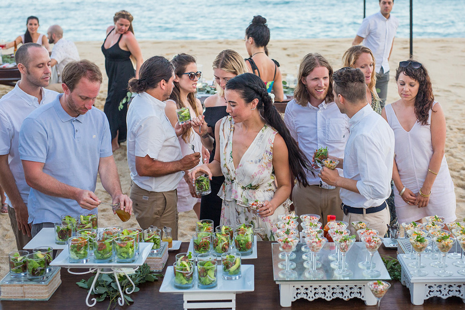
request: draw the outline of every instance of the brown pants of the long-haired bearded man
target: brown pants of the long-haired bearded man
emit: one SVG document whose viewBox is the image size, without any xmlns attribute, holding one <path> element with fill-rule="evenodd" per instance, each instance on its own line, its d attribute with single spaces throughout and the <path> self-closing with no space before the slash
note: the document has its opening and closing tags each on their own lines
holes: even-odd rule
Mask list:
<svg viewBox="0 0 465 310">
<path fill-rule="evenodd" d="M 320 221 L 323 227 L 326 225 L 328 214 L 336 216 L 336 220 L 341 221 L 344 212 L 341 210 L 341 198 L 339 198 L 339 187 L 335 189 L 324 189 L 318 185 L 308 185 L 303 187 L 297 183 L 292 190 L 292 202 L 297 215 L 317 214 L 321 216 Z"/>
</svg>

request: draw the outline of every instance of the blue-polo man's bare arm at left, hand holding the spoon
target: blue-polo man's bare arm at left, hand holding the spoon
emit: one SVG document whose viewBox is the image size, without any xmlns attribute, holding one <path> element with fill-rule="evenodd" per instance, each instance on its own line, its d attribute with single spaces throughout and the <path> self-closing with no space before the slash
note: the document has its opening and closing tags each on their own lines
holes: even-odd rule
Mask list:
<svg viewBox="0 0 465 310">
<path fill-rule="evenodd" d="M 44 163 L 23 160 L 24 177 L 30 187 L 54 197 L 62 197 L 76 200 L 81 208 L 92 210 L 96 208 L 100 199 L 88 190 L 83 190 L 58 181 L 47 175 L 44 171 Z"/>
</svg>

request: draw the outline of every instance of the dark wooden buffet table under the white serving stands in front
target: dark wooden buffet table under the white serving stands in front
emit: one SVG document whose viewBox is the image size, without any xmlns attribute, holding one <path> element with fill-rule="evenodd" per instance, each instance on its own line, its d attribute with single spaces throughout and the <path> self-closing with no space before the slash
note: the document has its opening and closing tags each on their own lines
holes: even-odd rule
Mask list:
<svg viewBox="0 0 465 310">
<path fill-rule="evenodd" d="M 168 265 L 174 263 L 175 255 L 177 253 L 185 252 L 188 244 L 183 243 L 180 250 L 169 252 Z M 304 299 L 296 300 L 292 303 L 290 308 L 281 308 L 279 306 L 279 288 L 273 280 L 273 268 L 271 260 L 271 242 L 258 242 L 258 259 L 244 260 L 245 264 L 255 265 L 255 291 L 248 293 L 241 293 L 236 295 L 236 309 L 242 310 L 256 310 L 256 309 L 331 309 L 331 310 L 347 310 L 347 309 L 375 309 L 373 306 L 366 306 L 365 303 L 358 298 L 350 299 L 348 301 L 342 299 L 334 299 L 326 301 L 317 299 L 309 302 Z M 379 249 L 380 254 L 395 257 L 395 250 L 386 249 L 381 246 Z M 56 290 L 55 294 L 49 301 L 1 301 L 0 309 L 88 309 L 85 304 L 87 290 L 78 288 L 75 284 L 82 278 L 89 278 L 89 275 L 76 276 L 68 273 L 66 269 L 61 270 L 62 285 Z M 140 291 L 131 294 L 135 300 L 131 306 L 117 306 L 116 309 L 183 309 L 182 295 L 175 295 L 169 293 L 160 293 L 159 289 L 162 280 L 154 283 L 145 283 L 140 285 Z M 97 303 L 94 308 L 90 309 L 106 309 L 108 301 Z M 392 287 L 381 301 L 382 309 L 441 309 L 441 310 L 456 310 L 464 309 L 462 299 L 458 297 L 450 297 L 443 300 L 439 297 L 428 299 L 422 306 L 414 306 L 410 303 L 409 290 L 402 286 L 399 281 L 392 281 Z"/>
</svg>

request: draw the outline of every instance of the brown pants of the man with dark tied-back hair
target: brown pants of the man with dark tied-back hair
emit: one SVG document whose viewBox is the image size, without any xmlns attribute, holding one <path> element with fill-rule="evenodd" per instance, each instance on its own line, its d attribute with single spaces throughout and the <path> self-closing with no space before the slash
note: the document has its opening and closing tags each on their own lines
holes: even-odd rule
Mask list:
<svg viewBox="0 0 465 310">
<path fill-rule="evenodd" d="M 136 220 L 142 229 L 150 225 L 163 230 L 163 226 L 171 227 L 173 240 L 178 240 L 178 202 L 177 191 L 149 192 L 136 183 L 131 182 L 130 198 Z"/>
</svg>

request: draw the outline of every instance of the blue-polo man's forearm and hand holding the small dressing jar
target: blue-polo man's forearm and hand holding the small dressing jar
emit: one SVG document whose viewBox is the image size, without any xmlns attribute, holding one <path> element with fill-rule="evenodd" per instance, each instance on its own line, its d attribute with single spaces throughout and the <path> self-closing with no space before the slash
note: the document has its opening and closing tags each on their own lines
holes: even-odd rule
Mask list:
<svg viewBox="0 0 465 310">
<path fill-rule="evenodd" d="M 121 210 L 132 214 L 132 200 L 129 199 L 127 195 L 123 195 L 113 155 L 100 157 L 98 162 L 98 174 L 100 175 L 103 188 L 105 188 L 113 199 L 112 203 L 119 202 Z"/>
</svg>

